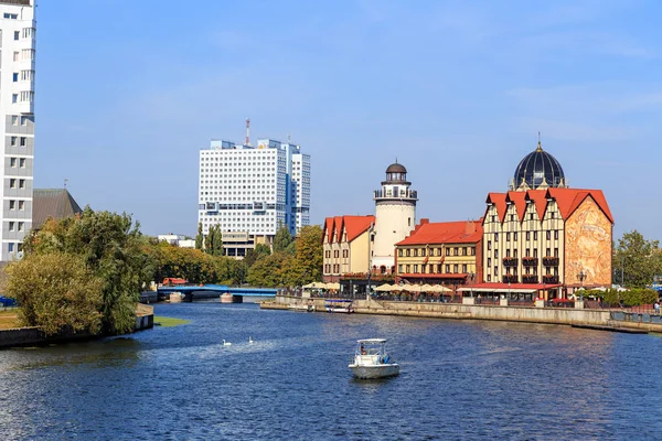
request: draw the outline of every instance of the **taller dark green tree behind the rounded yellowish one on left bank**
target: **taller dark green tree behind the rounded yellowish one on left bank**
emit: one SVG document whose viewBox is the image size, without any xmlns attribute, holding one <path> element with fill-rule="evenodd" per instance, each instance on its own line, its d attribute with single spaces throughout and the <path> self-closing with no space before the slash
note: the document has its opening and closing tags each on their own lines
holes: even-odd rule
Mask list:
<svg viewBox="0 0 662 441">
<path fill-rule="evenodd" d="M 87 270 L 103 280 L 102 331 L 125 334 L 134 330 L 140 288 L 150 279 L 143 270 L 139 224 L 131 216 L 85 207 L 77 218 L 50 220 L 24 240 L 26 256 L 64 252 L 78 256 Z"/>
</svg>

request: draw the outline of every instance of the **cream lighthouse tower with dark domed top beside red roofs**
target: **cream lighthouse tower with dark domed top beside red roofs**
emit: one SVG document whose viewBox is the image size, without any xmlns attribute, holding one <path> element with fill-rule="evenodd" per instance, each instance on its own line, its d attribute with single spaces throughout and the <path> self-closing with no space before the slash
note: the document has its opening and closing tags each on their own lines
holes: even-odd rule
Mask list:
<svg viewBox="0 0 662 441">
<path fill-rule="evenodd" d="M 395 272 L 395 244 L 416 226 L 417 193 L 407 181 L 407 169 L 395 163 L 386 169 L 382 189 L 374 192 L 375 226 L 371 267 L 376 273 Z"/>
</svg>

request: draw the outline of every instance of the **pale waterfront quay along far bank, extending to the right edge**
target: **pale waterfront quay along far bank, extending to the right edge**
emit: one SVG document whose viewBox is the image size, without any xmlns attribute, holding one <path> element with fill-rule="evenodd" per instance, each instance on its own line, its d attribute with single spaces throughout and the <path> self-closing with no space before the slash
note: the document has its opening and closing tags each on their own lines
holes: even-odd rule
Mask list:
<svg viewBox="0 0 662 441">
<path fill-rule="evenodd" d="M 263 309 L 288 309 L 291 304 L 311 301 L 314 310 L 324 312 L 325 299 L 302 299 L 278 295 L 273 302 L 261 302 Z M 607 329 L 632 329 L 662 332 L 662 318 L 648 313 L 608 309 L 534 308 L 522 305 L 460 304 L 440 302 L 408 302 L 354 300 L 359 314 L 399 315 L 455 320 L 490 320 L 505 322 L 545 323 L 559 325 L 591 325 Z"/>
</svg>

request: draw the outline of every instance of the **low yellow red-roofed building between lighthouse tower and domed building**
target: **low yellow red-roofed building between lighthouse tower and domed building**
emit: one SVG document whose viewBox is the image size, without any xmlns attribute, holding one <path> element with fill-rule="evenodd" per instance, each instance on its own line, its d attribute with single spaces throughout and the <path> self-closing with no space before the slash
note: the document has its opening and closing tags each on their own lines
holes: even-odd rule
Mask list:
<svg viewBox="0 0 662 441">
<path fill-rule="evenodd" d="M 397 278 L 409 283 L 458 286 L 482 279 L 482 219 L 421 219 L 396 244 Z"/>
</svg>

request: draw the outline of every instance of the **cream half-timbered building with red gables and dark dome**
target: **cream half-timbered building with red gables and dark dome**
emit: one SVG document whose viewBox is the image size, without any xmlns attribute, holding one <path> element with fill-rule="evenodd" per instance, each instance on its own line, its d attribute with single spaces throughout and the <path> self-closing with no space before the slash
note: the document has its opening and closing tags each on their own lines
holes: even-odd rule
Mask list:
<svg viewBox="0 0 662 441">
<path fill-rule="evenodd" d="M 522 168 L 533 154 L 534 170 Z M 567 187 L 560 165 L 540 143 L 513 182 L 516 190 L 490 193 L 485 201 L 483 281 L 525 283 L 545 297 L 609 287 L 613 217 L 602 192 Z"/>
</svg>

